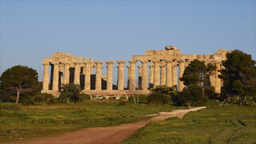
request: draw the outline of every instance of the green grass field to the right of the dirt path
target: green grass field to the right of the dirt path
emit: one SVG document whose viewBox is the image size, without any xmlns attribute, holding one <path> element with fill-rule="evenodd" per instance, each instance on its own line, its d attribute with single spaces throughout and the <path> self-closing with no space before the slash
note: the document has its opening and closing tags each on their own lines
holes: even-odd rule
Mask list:
<svg viewBox="0 0 256 144">
<path fill-rule="evenodd" d="M 256 143 L 255 106 L 217 106 L 151 122 L 122 143 Z"/>
</svg>

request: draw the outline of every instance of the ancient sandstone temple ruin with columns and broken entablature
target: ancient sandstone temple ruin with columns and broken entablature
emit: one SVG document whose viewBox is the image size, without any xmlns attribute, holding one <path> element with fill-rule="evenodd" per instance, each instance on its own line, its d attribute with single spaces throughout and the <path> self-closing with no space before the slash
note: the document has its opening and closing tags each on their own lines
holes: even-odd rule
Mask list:
<svg viewBox="0 0 256 144">
<path fill-rule="evenodd" d="M 92 58 L 75 57 L 72 54 L 56 52 L 50 58 L 43 58 L 45 66 L 43 90 L 58 96 L 62 84 L 80 84 L 82 92 L 96 96 L 117 96 L 130 94 L 148 94 L 149 89 L 158 85 L 176 86 L 181 91 L 185 87 L 179 81 L 185 67 L 192 60 L 212 63 L 217 69 L 210 75 L 210 85 L 215 92 L 221 92 L 219 70 L 224 69 L 221 61 L 226 59 L 227 50 L 220 49 L 212 55 L 181 54 L 175 46 L 166 46 L 164 50 L 146 50 L 145 55 L 132 56 L 132 60 L 105 61 L 107 75 L 102 75 L 103 62 L 94 62 Z M 117 86 L 113 85 L 113 68 L 117 63 Z M 124 86 L 125 63 L 128 71 L 127 86 Z M 139 65 L 141 63 L 141 65 Z M 136 66 L 138 77 L 136 77 Z M 93 69 L 96 68 L 96 73 Z"/>
</svg>

